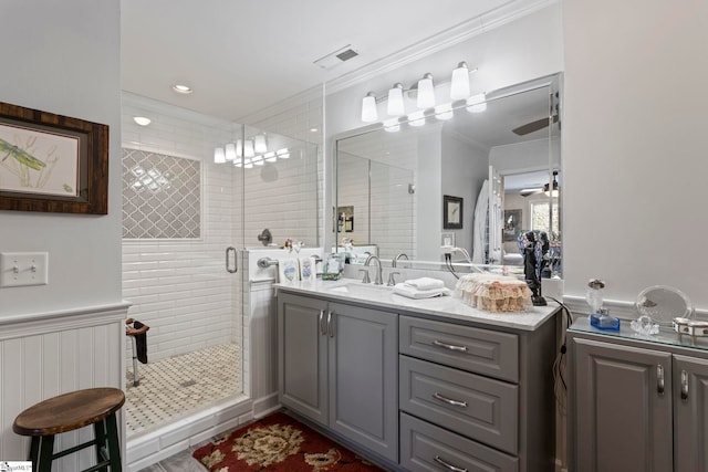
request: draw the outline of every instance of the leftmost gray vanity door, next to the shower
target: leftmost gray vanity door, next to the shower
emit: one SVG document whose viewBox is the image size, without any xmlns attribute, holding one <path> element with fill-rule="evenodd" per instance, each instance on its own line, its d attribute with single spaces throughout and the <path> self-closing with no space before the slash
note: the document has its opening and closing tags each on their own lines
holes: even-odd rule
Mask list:
<svg viewBox="0 0 708 472">
<path fill-rule="evenodd" d="M 279 400 L 324 426 L 329 407 L 326 316 L 325 302 L 278 296 Z"/>
</svg>

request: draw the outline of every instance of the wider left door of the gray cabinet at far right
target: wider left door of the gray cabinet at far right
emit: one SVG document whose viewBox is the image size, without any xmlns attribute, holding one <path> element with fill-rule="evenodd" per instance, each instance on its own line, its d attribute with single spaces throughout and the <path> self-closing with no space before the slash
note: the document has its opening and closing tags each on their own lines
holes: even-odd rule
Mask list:
<svg viewBox="0 0 708 472">
<path fill-rule="evenodd" d="M 671 355 L 575 338 L 579 472 L 673 468 Z"/>
</svg>

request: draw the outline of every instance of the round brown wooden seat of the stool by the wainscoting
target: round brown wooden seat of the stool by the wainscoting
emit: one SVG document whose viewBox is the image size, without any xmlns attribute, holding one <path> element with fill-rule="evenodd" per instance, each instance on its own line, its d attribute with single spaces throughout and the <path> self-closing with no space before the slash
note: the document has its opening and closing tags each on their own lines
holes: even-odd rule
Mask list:
<svg viewBox="0 0 708 472">
<path fill-rule="evenodd" d="M 22 411 L 12 424 L 21 436 L 49 436 L 103 420 L 125 403 L 123 390 L 90 388 L 46 399 Z"/>
</svg>

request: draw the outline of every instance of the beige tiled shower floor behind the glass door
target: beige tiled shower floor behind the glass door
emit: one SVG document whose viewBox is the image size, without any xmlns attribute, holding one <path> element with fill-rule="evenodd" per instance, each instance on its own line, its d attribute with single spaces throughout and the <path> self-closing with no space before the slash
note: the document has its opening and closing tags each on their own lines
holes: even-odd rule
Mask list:
<svg viewBox="0 0 708 472">
<path fill-rule="evenodd" d="M 138 364 L 140 384 L 135 387 L 131 361 L 125 392 L 127 437 L 165 426 L 240 394 L 240 346 L 221 344 Z"/>
</svg>

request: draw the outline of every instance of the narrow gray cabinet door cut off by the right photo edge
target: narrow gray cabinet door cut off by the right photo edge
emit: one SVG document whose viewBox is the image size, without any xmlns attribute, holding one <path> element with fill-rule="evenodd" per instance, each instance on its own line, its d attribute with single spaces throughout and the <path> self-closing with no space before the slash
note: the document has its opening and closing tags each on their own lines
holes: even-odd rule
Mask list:
<svg viewBox="0 0 708 472">
<path fill-rule="evenodd" d="M 674 356 L 674 470 L 708 471 L 708 360 Z"/>
</svg>

